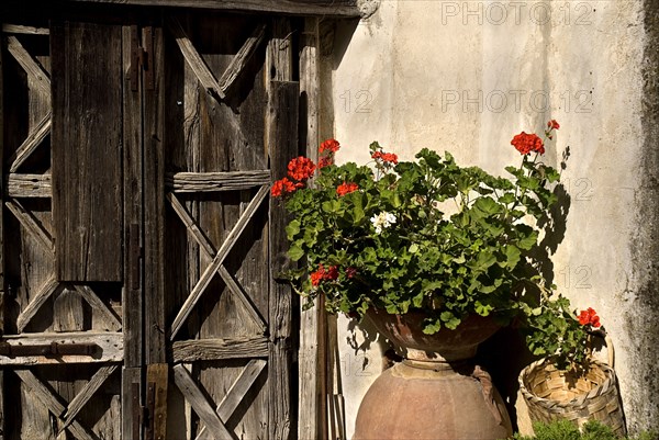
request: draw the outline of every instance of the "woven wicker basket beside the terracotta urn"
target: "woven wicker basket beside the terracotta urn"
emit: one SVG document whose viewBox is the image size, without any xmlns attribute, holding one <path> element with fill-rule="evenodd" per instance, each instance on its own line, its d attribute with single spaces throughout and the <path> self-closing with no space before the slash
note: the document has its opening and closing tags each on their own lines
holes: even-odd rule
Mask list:
<svg viewBox="0 0 659 440">
<path fill-rule="evenodd" d="M 534 422 L 571 420 L 581 427 L 597 420 L 626 435 L 615 373 L 603 362 L 591 360 L 588 371 L 578 375 L 540 359 L 522 371 L 520 388 Z"/>
</svg>

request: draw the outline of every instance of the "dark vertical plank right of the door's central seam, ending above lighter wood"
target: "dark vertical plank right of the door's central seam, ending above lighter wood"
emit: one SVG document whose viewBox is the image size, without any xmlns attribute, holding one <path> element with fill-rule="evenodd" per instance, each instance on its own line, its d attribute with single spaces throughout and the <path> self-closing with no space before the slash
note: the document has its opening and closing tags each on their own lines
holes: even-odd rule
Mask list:
<svg viewBox="0 0 659 440">
<path fill-rule="evenodd" d="M 144 90 L 144 361 L 166 363 L 165 323 L 165 55 L 161 27 L 153 32 L 154 88 Z M 147 192 L 148 191 L 148 192 Z"/>
</svg>

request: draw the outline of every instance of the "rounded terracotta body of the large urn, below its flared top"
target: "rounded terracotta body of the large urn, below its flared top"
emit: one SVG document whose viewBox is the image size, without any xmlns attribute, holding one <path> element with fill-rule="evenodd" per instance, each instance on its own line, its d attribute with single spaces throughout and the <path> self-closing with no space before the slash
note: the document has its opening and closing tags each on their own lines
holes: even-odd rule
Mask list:
<svg viewBox="0 0 659 440">
<path fill-rule="evenodd" d="M 498 440 L 512 436 L 488 373 L 468 363 L 404 361 L 367 392 L 353 440 Z"/>
</svg>

